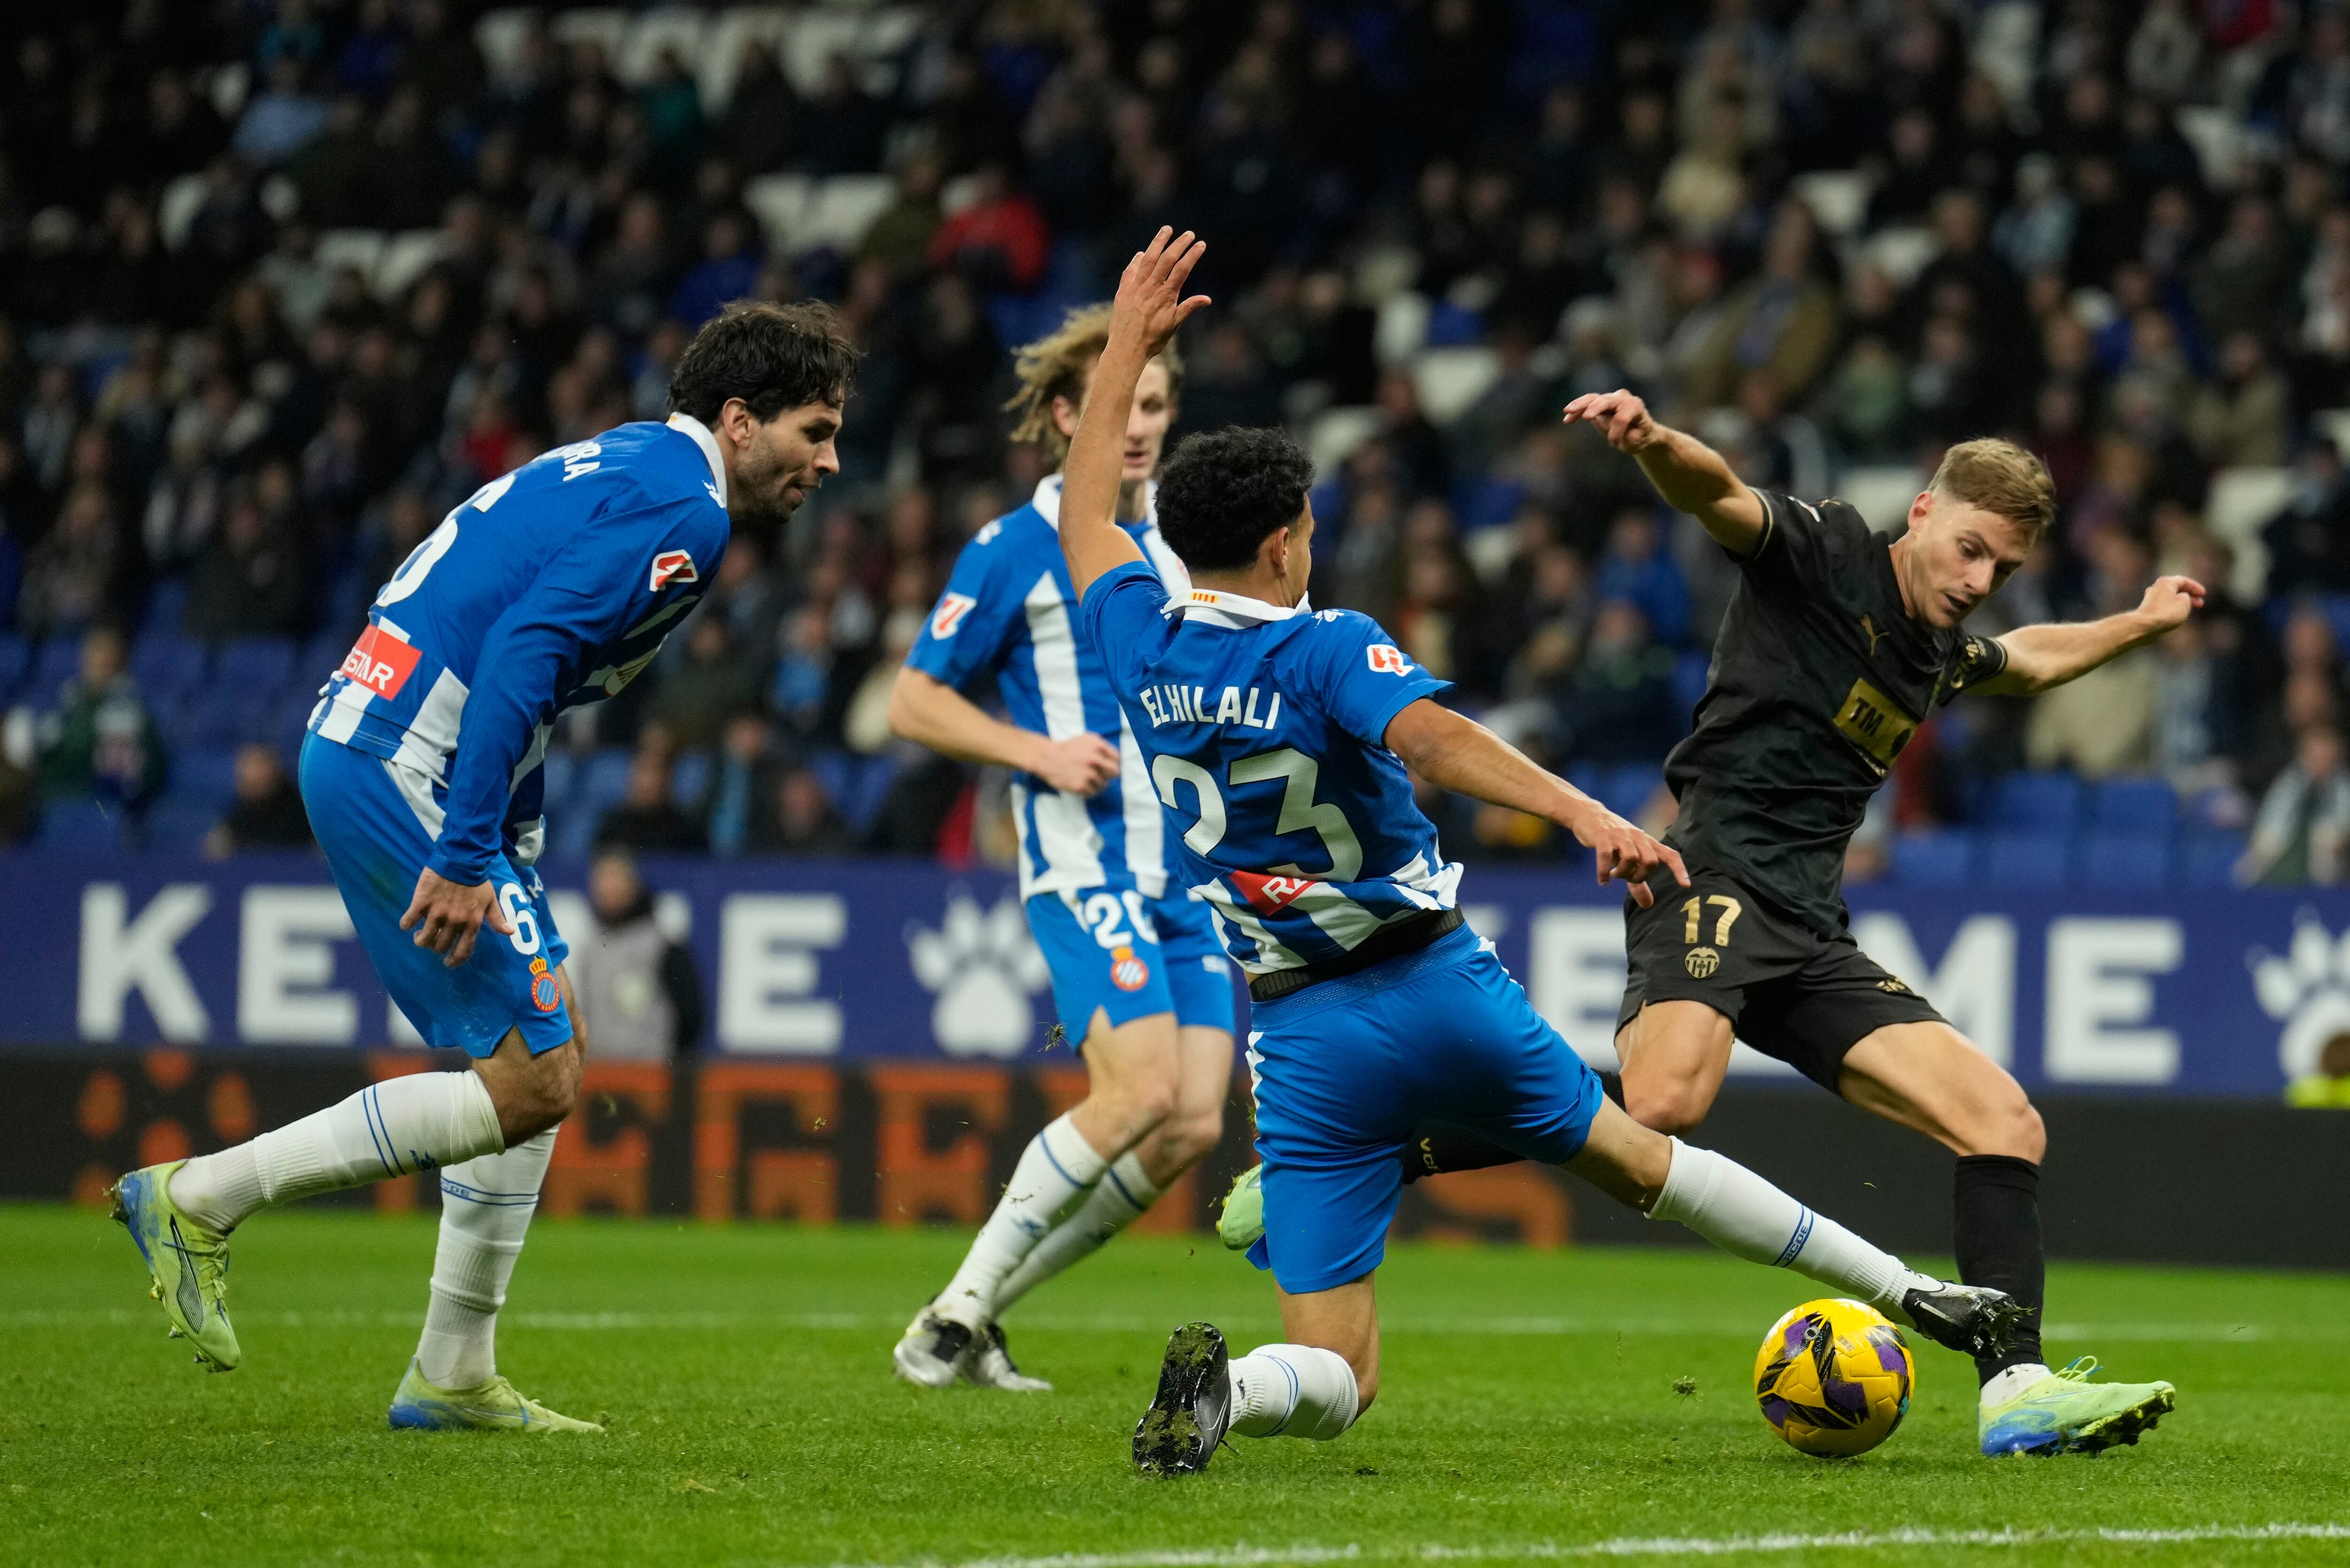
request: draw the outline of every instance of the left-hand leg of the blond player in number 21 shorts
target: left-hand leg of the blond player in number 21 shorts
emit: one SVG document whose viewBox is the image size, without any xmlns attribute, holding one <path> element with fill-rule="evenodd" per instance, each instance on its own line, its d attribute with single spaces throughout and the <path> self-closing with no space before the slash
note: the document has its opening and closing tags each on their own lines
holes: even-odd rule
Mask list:
<svg viewBox="0 0 2350 1568">
<path fill-rule="evenodd" d="M 891 1361 L 902 1382 L 945 1389 L 978 1371 L 973 1380 L 994 1380 L 992 1387 L 1050 1387 L 1039 1378 L 1022 1378 L 1010 1366 L 1001 1328 L 992 1333 L 1006 1305 L 1003 1286 L 1046 1237 L 1093 1197 L 1112 1161 L 1126 1157 L 1173 1114 L 1180 1084 L 1175 1016 L 1152 1013 L 1109 1027 L 1107 1016 L 1095 1011 L 1095 1025 L 1086 1037 L 1086 1070 L 1093 1074 L 1086 1100 L 1048 1124 L 1020 1152 L 1013 1180 L 1003 1185 L 994 1213 L 980 1225 L 964 1265 L 898 1338 Z M 1126 1161 L 1126 1171 L 1133 1180 L 1156 1187 L 1140 1161 Z M 1133 1213 L 1142 1208 L 1144 1204 L 1133 1204 Z"/>
</svg>

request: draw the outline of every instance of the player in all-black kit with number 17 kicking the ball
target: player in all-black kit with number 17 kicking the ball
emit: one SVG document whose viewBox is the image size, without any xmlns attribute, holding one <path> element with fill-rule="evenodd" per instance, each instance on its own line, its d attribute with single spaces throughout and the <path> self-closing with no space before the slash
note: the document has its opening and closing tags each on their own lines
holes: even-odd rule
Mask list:
<svg viewBox="0 0 2350 1568">
<path fill-rule="evenodd" d="M 1720 1093 L 1734 1034 L 1946 1145 L 1958 1154 L 1960 1279 L 2030 1307 L 2016 1345 L 1976 1363 L 1983 1453 L 2134 1443 L 2171 1408 L 2169 1382 L 2089 1382 L 2094 1359 L 2056 1373 L 2042 1361 L 2040 1112 L 2005 1067 L 1859 950 L 1840 884 L 1868 797 L 1934 708 L 1958 691 L 2028 696 L 2087 675 L 2181 625 L 2202 585 L 2167 576 L 2129 614 L 1976 637 L 1965 618 L 2056 512 L 2047 468 L 2021 447 L 1950 447 L 1911 503 L 1908 531 L 1887 541 L 1842 501 L 1746 487 L 1631 393 L 1577 397 L 1565 423 L 1593 425 L 1640 463 L 1741 574 L 1697 729 L 1666 762 L 1680 802 L 1666 844 L 1690 870 L 1687 896 L 1624 910 L 1624 1107 L 1664 1133 L 1694 1128 Z M 1513 1159 L 1459 1128 L 1422 1131 L 1403 1152 L 1410 1175 Z"/>
</svg>

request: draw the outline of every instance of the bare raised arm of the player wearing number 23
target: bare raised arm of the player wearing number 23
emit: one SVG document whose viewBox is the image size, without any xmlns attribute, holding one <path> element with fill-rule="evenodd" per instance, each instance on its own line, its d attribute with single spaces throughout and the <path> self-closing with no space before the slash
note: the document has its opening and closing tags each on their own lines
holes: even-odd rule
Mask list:
<svg viewBox="0 0 2350 1568">
<path fill-rule="evenodd" d="M 1189 230 L 1177 237 L 1161 228 L 1119 277 L 1119 296 L 1109 306 L 1109 343 L 1086 381 L 1086 411 L 1069 437 L 1069 463 L 1060 482 L 1060 552 L 1069 557 L 1069 583 L 1079 599 L 1093 578 L 1142 559 L 1142 550 L 1116 524 L 1126 421 L 1142 367 L 1208 303 L 1206 294 L 1182 296 L 1182 284 L 1206 249 L 1208 242 L 1194 240 Z"/>
</svg>

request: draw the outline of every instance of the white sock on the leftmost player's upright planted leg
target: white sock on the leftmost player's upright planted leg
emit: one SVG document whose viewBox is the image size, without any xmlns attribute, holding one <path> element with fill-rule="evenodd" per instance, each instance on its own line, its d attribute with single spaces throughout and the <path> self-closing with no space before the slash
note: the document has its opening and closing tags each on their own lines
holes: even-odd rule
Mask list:
<svg viewBox="0 0 2350 1568">
<path fill-rule="evenodd" d="M 522 1234 L 538 1213 L 555 1128 L 503 1154 L 442 1168 L 442 1237 L 432 1253 L 432 1305 L 416 1342 L 416 1371 L 442 1389 L 470 1389 L 498 1373 L 498 1307 L 515 1276 Z"/>
</svg>

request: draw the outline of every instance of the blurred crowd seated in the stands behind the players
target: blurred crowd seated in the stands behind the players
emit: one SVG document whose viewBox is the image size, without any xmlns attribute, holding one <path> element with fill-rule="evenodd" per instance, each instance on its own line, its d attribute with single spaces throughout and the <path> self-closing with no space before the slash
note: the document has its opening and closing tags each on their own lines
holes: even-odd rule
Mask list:
<svg viewBox="0 0 2350 1568">
<path fill-rule="evenodd" d="M 1920 731 L 1854 872 L 2350 879 L 2350 12 L 2282 0 L 113 0 L 0 59 L 0 837 L 301 844 L 287 764 L 390 569 L 627 418 L 736 296 L 865 362 L 841 475 L 550 757 L 552 851 L 1003 858 L 888 733 L 1039 477 L 1008 350 L 1213 240 L 1180 430 L 1314 449 L 1316 597 L 1612 802 L 1734 567 L 1558 428 L 1633 386 L 1880 527 L 2009 433 L 2061 517 L 1988 630 L 2186 632 Z M 2343 425 L 2350 430 L 2350 425 Z M 2089 780 L 2082 785 L 2080 780 Z M 1455 853 L 1544 858 L 1434 802 Z M 2249 849 L 2247 849 L 2249 830 Z"/>
</svg>

